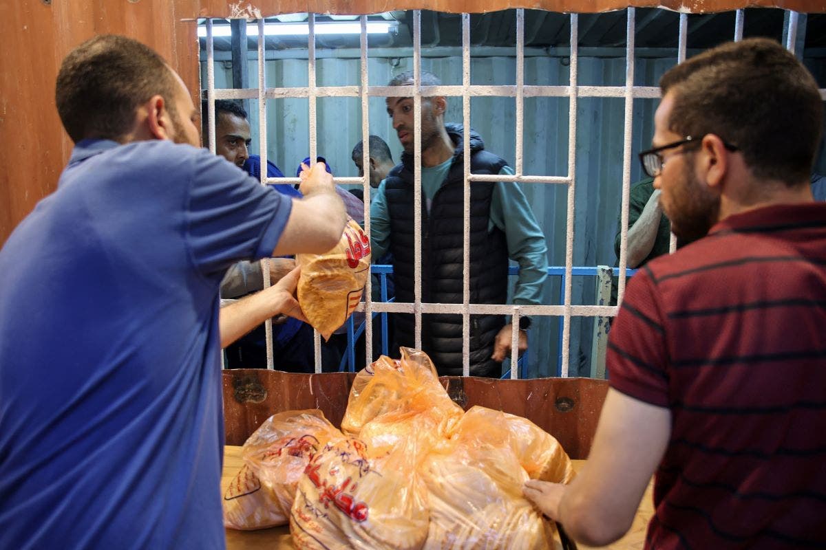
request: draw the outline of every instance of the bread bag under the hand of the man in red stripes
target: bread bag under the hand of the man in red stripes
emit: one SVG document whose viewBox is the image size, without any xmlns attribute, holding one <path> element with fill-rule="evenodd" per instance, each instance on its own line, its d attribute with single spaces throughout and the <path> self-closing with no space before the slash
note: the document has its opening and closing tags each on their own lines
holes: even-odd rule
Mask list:
<svg viewBox="0 0 826 550">
<path fill-rule="evenodd" d="M 559 548 L 555 526 L 522 496 L 529 477 L 567 483 L 571 461 L 539 426 L 472 407 L 420 469 L 428 488 L 425 548 Z"/>
</svg>

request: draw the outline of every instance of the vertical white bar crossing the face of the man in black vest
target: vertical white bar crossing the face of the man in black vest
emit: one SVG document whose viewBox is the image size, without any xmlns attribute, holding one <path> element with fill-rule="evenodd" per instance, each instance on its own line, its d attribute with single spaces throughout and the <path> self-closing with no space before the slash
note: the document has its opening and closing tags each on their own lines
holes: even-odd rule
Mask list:
<svg viewBox="0 0 826 550">
<path fill-rule="evenodd" d="M 413 11 L 413 317 L 421 349 L 421 11 Z"/>
</svg>

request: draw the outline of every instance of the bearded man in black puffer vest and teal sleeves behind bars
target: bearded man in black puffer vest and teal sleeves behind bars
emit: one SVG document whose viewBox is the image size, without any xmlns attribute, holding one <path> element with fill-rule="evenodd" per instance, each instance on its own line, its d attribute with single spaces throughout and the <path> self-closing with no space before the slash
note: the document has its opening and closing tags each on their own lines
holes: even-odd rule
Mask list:
<svg viewBox="0 0 826 550">
<path fill-rule="evenodd" d="M 422 71 L 422 86 L 441 82 Z M 402 73 L 389 86 L 412 86 L 413 73 Z M 376 191 L 370 207 L 373 257 L 390 250 L 396 301 L 414 300 L 414 107 L 412 97 L 388 97 L 387 115 L 404 147 L 401 162 Z M 463 127 L 445 125 L 444 96 L 421 101 L 421 301 L 462 303 L 463 299 Z M 473 174 L 513 175 L 507 162 L 484 150 L 482 137 L 470 132 Z M 473 182 L 470 207 L 470 302 L 506 303 L 508 259 L 519 263 L 513 302 L 540 303 L 547 277 L 545 237 L 528 200 L 514 182 Z M 396 313 L 396 339 L 414 345 L 412 314 Z M 528 347 L 529 317 L 520 317 L 520 352 Z M 470 374 L 498 378 L 510 355 L 511 326 L 503 315 L 472 315 Z M 462 374 L 462 316 L 425 314 L 422 349 L 441 375 Z"/>
</svg>

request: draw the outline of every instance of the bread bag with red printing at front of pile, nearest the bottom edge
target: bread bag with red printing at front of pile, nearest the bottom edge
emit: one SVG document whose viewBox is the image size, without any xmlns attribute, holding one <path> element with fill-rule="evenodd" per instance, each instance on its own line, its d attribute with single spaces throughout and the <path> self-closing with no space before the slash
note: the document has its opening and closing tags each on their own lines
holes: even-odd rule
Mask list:
<svg viewBox="0 0 826 550">
<path fill-rule="evenodd" d="M 296 548 L 421 548 L 429 511 L 408 451 L 402 443 L 373 454 L 352 438 L 327 444 L 298 482 L 290 515 Z"/>
</svg>

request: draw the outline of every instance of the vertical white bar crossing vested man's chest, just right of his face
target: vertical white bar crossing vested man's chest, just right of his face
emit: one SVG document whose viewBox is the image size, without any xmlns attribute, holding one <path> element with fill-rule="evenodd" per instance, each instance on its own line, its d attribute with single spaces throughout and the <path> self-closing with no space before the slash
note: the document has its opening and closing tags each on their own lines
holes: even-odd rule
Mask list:
<svg viewBox="0 0 826 550">
<path fill-rule="evenodd" d="M 462 14 L 462 375 L 470 376 L 470 14 Z"/>
</svg>

